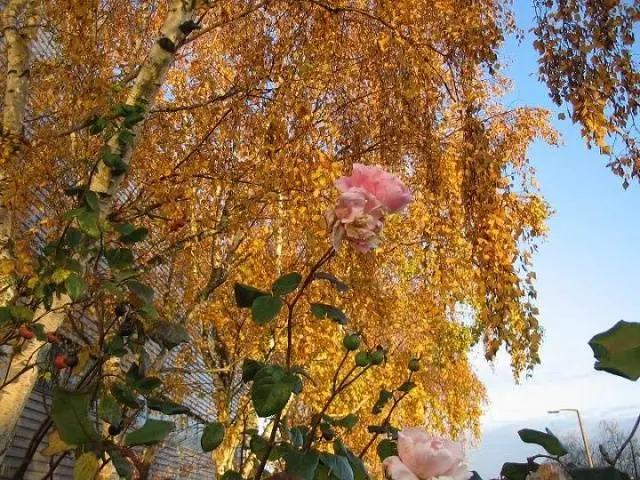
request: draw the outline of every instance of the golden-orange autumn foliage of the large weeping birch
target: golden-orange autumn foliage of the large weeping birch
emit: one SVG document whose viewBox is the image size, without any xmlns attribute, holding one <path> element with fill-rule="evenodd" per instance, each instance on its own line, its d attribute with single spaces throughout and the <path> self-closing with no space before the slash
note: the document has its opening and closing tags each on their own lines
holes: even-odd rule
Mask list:
<svg viewBox="0 0 640 480">
<path fill-rule="evenodd" d="M 59 192 L 86 184 L 100 156 L 100 139 L 81 127 L 123 101 L 165 3 L 42 5 L 30 148 L 7 168 L 16 208 L 47 197 L 50 235 L 70 204 Z M 527 148 L 556 141 L 548 112 L 501 103 L 508 82 L 497 54 L 513 28 L 504 2 L 233 0 L 217 2 L 202 26 L 151 106 L 112 217 L 152 231 L 138 253 L 157 307 L 188 323 L 193 350 L 181 362 L 199 358 L 213 372 L 216 413 L 234 425 L 229 448 L 246 415 L 242 360 L 282 359 L 286 343 L 284 318 L 254 325 L 232 285 L 268 288 L 281 273 L 308 271 L 328 246 L 332 184 L 354 162 L 401 176 L 416 200 L 390 219 L 380 250 L 343 248 L 330 264 L 347 294 L 311 288 L 311 300 L 344 307 L 347 331 L 391 352 L 329 413 L 360 414 L 347 434 L 357 450 L 378 391 L 402 383 L 419 356 L 418 388 L 393 422 L 477 432 L 485 397 L 472 345 L 483 341 L 487 359 L 505 346 L 515 375 L 538 362 L 530 264 L 548 209 Z M 302 304 L 293 359 L 313 380 L 289 407 L 296 420 L 320 408 L 342 354 L 342 329 L 307 311 Z M 167 382 L 177 396 L 200 390 L 179 375 Z"/>
</svg>

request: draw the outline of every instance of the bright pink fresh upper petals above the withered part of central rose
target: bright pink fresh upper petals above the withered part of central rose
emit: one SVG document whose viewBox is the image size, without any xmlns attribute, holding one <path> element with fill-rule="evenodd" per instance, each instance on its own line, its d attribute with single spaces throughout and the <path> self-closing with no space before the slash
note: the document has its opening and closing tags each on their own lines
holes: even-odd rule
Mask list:
<svg viewBox="0 0 640 480">
<path fill-rule="evenodd" d="M 399 212 L 413 200 L 409 189 L 397 177 L 377 165 L 354 163 L 351 176 L 339 178 L 336 187 L 342 193 L 362 188 L 373 195 L 388 213 Z"/>
</svg>

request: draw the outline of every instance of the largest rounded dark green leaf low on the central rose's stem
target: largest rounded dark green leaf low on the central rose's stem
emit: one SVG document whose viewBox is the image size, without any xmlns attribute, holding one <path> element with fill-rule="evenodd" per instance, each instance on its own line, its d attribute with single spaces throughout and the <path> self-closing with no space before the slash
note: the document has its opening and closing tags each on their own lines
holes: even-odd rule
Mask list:
<svg viewBox="0 0 640 480">
<path fill-rule="evenodd" d="M 281 411 L 291 396 L 291 384 L 285 379 L 284 370 L 267 366 L 256 374 L 251 387 L 251 400 L 260 417 L 270 417 Z"/>
</svg>

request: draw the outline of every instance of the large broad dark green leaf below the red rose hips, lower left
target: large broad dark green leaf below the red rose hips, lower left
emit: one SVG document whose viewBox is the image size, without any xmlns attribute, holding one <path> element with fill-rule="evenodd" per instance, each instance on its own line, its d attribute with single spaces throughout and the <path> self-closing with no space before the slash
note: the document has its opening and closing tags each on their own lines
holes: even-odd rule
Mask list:
<svg viewBox="0 0 640 480">
<path fill-rule="evenodd" d="M 82 445 L 100 439 L 89 419 L 91 394 L 56 389 L 51 405 L 51 418 L 60 438 L 70 445 Z"/>
</svg>

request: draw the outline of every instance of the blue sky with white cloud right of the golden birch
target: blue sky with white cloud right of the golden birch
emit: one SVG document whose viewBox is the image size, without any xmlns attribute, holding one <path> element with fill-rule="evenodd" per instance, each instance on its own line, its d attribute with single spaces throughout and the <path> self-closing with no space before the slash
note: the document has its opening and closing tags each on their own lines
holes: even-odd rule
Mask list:
<svg viewBox="0 0 640 480">
<path fill-rule="evenodd" d="M 516 3 L 518 23 L 528 29 L 528 2 Z M 549 415 L 547 410 L 579 408 L 592 437 L 600 420 L 627 424 L 640 412 L 639 386 L 594 371 L 587 345 L 594 334 L 620 319 L 640 321 L 640 185 L 624 191 L 620 179 L 605 167 L 606 159 L 586 148 L 579 127 L 555 118 L 559 110 L 537 80 L 530 36 L 522 44 L 508 42 L 505 54 L 515 84 L 508 102 L 554 111 L 563 145 L 540 143 L 530 150 L 542 194 L 555 211 L 535 261 L 545 328 L 542 364 L 533 378 L 515 385 L 506 356 L 500 355 L 493 365 L 480 354 L 474 359 L 490 399 L 481 443 L 470 452 L 471 467 L 483 478 L 495 478 L 504 461 L 524 461 L 537 451 L 519 442 L 519 428 L 577 432 L 575 415 Z"/>
</svg>

